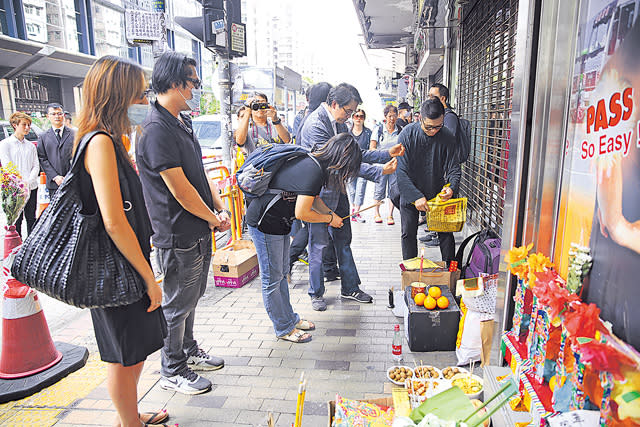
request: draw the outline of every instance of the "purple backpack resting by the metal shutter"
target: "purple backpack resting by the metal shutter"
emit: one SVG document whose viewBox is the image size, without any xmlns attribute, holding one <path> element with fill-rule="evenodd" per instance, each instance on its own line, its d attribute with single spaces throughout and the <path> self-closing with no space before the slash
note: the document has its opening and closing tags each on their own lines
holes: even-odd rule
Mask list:
<svg viewBox="0 0 640 427">
<path fill-rule="evenodd" d="M 463 263 L 464 250 L 471 240 L 474 240 L 471 251 L 467 256 L 467 262 Z M 501 243 L 500 236 L 490 228 L 482 229 L 464 239 L 455 258 L 460 266 L 460 278 L 470 279 L 479 277 L 480 273 L 497 273 L 500 266 Z"/>
</svg>

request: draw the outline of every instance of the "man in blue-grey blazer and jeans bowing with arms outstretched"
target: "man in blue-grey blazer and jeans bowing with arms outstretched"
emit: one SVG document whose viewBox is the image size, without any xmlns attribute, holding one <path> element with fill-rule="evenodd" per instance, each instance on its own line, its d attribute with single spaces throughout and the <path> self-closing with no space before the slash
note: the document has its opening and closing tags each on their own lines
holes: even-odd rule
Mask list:
<svg viewBox="0 0 640 427">
<path fill-rule="evenodd" d="M 300 144 L 314 149 L 326 143 L 331 137 L 347 132 L 345 122 L 362 102 L 358 90 L 350 84 L 341 83 L 329 91 L 326 102 L 309 114 L 300 130 Z M 362 152 L 363 164 L 360 175 L 372 181 L 378 181 L 383 173 L 395 171 L 395 161 L 391 156 L 402 155 L 404 150 L 394 146 L 388 151 Z M 366 163 L 388 162 L 384 168 Z M 323 188 L 320 200 L 326 204 L 330 213 L 340 217 L 349 215 L 349 199 L 340 191 Z M 325 212 L 322 212 L 325 213 Z M 341 296 L 361 303 L 370 303 L 373 298 L 360 289 L 360 277 L 351 252 L 351 221 L 343 222 L 342 228 L 327 227 L 326 224 L 309 224 L 309 296 L 311 307 L 316 311 L 324 311 L 327 304 L 324 300 L 324 281 L 322 255 L 329 242 L 333 242 L 338 263 L 340 265 Z"/>
</svg>

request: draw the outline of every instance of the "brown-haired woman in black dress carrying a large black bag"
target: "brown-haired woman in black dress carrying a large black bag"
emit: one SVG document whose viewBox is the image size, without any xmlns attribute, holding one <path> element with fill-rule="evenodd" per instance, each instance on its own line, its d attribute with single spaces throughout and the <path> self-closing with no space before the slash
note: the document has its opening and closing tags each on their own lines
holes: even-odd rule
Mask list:
<svg viewBox="0 0 640 427">
<path fill-rule="evenodd" d="M 107 388 L 117 411 L 116 425 L 127 427 L 168 417 L 166 411 L 138 413 L 137 384 L 144 361 L 162 347 L 167 330 L 162 310 L 157 310 L 162 290 L 149 263 L 151 225 L 142 186 L 122 144 L 122 135 L 131 133 L 130 107 L 148 104 L 145 88 L 144 73 L 137 64 L 115 56 L 98 59 L 84 79 L 74 142 L 75 155 L 85 135 L 99 132 L 79 153 L 84 155 L 80 169 L 83 213 L 99 212 L 109 237 L 147 287 L 147 295 L 133 304 L 91 310 L 100 357 L 108 362 Z M 120 180 L 118 173 L 126 179 Z M 121 183 L 128 186 L 131 200 L 123 202 Z"/>
</svg>

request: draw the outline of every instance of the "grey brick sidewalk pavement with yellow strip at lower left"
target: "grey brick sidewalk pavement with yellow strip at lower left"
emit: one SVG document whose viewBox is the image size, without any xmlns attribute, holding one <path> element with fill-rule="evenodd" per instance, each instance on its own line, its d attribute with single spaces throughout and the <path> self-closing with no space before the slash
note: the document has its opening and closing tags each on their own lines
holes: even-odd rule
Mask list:
<svg viewBox="0 0 640 427">
<path fill-rule="evenodd" d="M 352 223 L 361 288 L 374 297 L 373 304 L 341 300 L 340 284 L 331 282 L 325 295 L 327 311 L 313 311 L 307 295 L 307 267 L 295 265 L 291 302 L 302 318 L 316 324 L 309 343 L 276 340 L 262 303 L 259 278 L 243 288 L 228 289 L 214 287 L 210 276 L 198 305 L 195 336 L 202 348 L 223 357 L 226 366 L 200 372 L 214 384 L 212 391 L 187 396 L 158 386 L 160 354 L 154 353 L 145 364 L 138 388 L 140 410 L 166 408 L 169 422 L 181 426 L 266 426 L 271 412 L 277 426 L 289 427 L 295 418 L 302 372 L 308 380 L 305 427 L 327 425 L 327 401 L 336 393 L 355 399 L 390 396 L 386 370 L 394 364 L 393 326 L 403 322 L 386 308 L 389 288 L 399 289 L 401 282 L 398 212 L 396 221 L 394 226 L 374 224 L 367 215 L 365 224 Z M 439 249 L 427 248 L 425 256 L 439 260 Z M 86 346 L 90 351 L 87 365 L 29 398 L 0 405 L 0 424 L 113 424 L 106 365 L 97 352 L 89 311 L 73 309 L 64 315 L 68 318 L 49 323 L 53 339 Z M 438 367 L 456 362 L 454 352 L 411 353 L 406 341 L 403 353 L 404 364 L 409 366 L 414 361 Z"/>
</svg>

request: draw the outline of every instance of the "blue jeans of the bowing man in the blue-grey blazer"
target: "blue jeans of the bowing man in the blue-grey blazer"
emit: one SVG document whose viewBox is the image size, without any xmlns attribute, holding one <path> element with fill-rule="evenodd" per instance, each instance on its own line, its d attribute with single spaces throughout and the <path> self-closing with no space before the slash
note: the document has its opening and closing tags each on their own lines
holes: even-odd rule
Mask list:
<svg viewBox="0 0 640 427">
<path fill-rule="evenodd" d="M 347 197 L 340 196 L 336 212 L 348 212 Z M 360 276 L 351 252 L 351 221 L 344 221 L 342 228 L 327 227 L 326 223 L 309 224 L 309 296 L 324 295 L 322 252 L 333 242 L 340 267 L 341 292 L 345 295 L 360 290 Z"/>
</svg>

